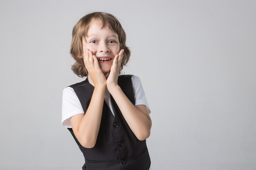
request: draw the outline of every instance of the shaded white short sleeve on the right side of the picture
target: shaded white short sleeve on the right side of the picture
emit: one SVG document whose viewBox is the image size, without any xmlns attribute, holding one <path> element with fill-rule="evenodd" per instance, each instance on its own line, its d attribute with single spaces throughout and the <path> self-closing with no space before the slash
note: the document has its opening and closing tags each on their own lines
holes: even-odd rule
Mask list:
<svg viewBox="0 0 256 170">
<path fill-rule="evenodd" d="M 132 88 L 133 88 L 134 99 L 135 99 L 135 106 L 145 105 L 148 110 L 148 113 L 151 113 L 148 106 L 147 99 L 146 99 L 146 95 L 139 77 L 132 75 L 131 79 L 132 79 Z"/>
</svg>

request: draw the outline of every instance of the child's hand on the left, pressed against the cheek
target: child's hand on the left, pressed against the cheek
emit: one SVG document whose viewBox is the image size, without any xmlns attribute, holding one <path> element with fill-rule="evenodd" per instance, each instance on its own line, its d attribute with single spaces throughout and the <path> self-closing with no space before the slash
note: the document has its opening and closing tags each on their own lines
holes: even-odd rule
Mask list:
<svg viewBox="0 0 256 170">
<path fill-rule="evenodd" d="M 83 61 L 88 71 L 88 78 L 92 79 L 94 86 L 106 86 L 106 77 L 101 71 L 97 57 L 92 54 L 92 51 L 86 49 L 85 53 L 83 53 Z"/>
</svg>

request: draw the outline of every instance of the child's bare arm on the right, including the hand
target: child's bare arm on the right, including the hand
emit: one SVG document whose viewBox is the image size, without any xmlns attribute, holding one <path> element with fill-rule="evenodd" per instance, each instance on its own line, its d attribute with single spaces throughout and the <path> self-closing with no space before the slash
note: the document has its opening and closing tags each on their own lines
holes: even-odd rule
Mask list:
<svg viewBox="0 0 256 170">
<path fill-rule="evenodd" d="M 152 122 L 146 106 L 134 106 L 117 84 L 123 52 L 124 51 L 121 50 L 120 53 L 116 55 L 106 83 L 108 91 L 117 103 L 130 129 L 137 139 L 142 141 L 150 136 Z"/>
</svg>

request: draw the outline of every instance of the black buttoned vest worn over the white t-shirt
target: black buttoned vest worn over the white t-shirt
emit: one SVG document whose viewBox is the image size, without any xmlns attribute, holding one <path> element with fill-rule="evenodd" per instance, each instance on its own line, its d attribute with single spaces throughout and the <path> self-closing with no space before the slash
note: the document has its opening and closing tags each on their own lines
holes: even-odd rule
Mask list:
<svg viewBox="0 0 256 170">
<path fill-rule="evenodd" d="M 135 104 L 131 75 L 119 76 L 118 84 L 128 99 Z M 94 86 L 86 79 L 70 87 L 74 89 L 84 113 L 86 113 Z M 139 141 L 137 139 L 126 123 L 115 100 L 112 96 L 110 98 L 115 117 L 104 101 L 99 134 L 93 148 L 81 146 L 72 128 L 68 128 L 85 157 L 83 170 L 148 170 L 150 157 L 146 140 Z"/>
</svg>

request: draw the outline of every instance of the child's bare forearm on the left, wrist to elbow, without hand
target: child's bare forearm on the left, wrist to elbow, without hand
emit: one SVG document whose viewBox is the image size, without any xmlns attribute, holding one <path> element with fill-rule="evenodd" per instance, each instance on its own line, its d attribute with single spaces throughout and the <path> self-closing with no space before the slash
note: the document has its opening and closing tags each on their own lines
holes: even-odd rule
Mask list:
<svg viewBox="0 0 256 170">
<path fill-rule="evenodd" d="M 85 148 L 93 148 L 96 144 L 101 124 L 105 90 L 106 86 L 95 87 L 86 113 L 81 119 L 73 122 L 73 124 L 78 124 L 77 126 L 74 125 L 76 127 L 76 129 L 73 129 L 74 134 Z"/>
</svg>

